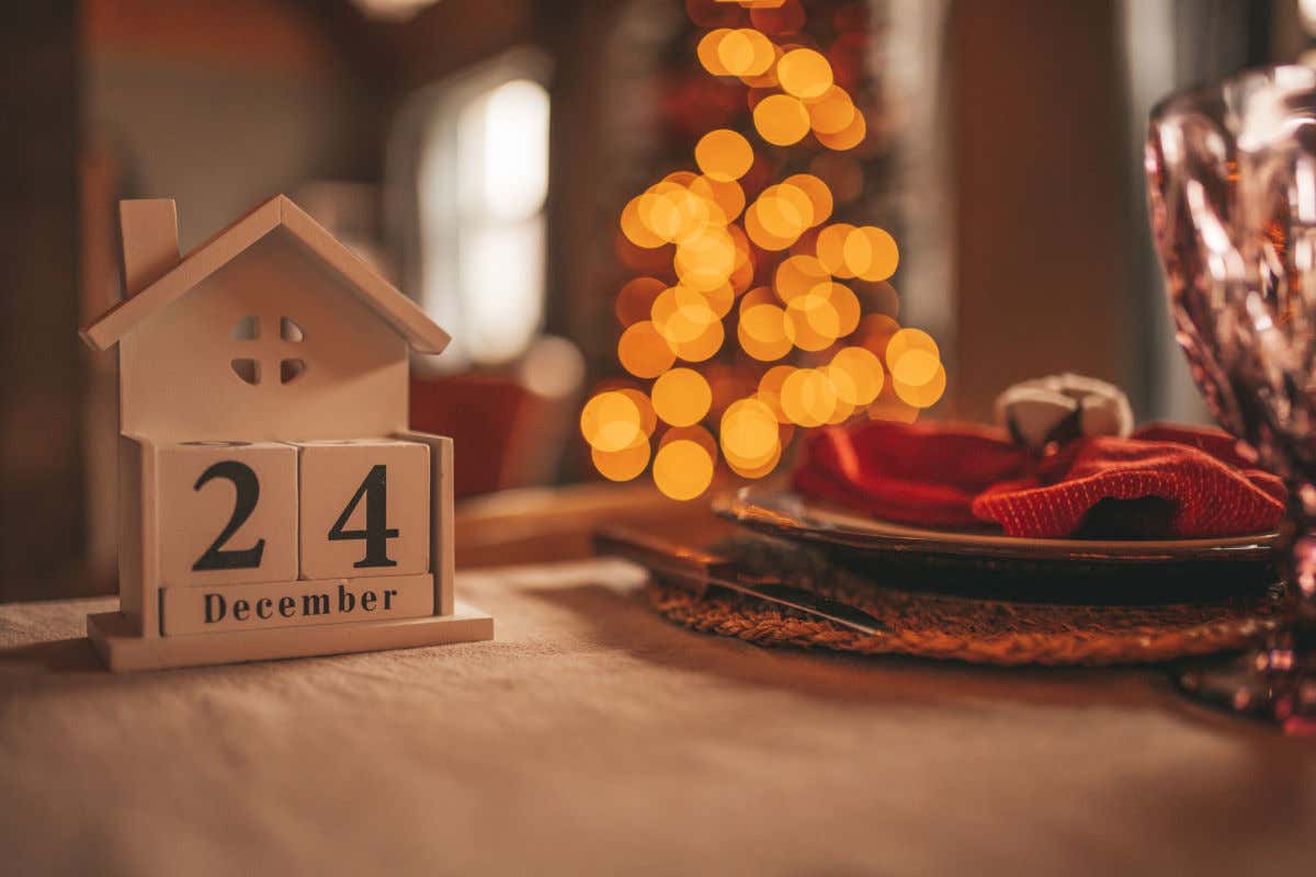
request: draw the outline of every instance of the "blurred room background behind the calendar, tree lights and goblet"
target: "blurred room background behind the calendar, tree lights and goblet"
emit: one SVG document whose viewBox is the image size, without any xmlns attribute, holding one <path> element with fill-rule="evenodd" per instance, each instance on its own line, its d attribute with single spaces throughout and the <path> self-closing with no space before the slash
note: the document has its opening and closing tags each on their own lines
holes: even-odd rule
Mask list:
<svg viewBox="0 0 1316 877">
<path fill-rule="evenodd" d="M 8 4 L 0 600 L 114 588 L 114 362 L 76 327 L 121 295 L 118 199 L 175 199 L 186 251 L 287 193 L 453 334 L 415 364 L 412 419 L 457 440 L 459 494 L 597 480 L 576 419 L 621 373 L 637 266 L 617 217 L 746 113 L 696 59 L 719 5 Z M 949 376 L 928 417 L 984 418 L 1011 381 L 1071 369 L 1142 419 L 1202 418 L 1148 239 L 1144 124 L 1171 89 L 1300 60 L 1316 3 L 779 7 L 776 26 L 800 7 L 826 32 L 867 114 L 809 171 L 900 243 L 900 322 Z"/>
</svg>

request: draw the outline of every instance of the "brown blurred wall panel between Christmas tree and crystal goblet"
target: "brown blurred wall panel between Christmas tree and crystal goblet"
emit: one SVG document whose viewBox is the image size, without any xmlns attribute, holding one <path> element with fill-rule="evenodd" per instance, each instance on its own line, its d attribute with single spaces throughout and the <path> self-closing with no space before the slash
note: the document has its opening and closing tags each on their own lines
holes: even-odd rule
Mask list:
<svg viewBox="0 0 1316 877">
<path fill-rule="evenodd" d="M 1116 39 L 1109 0 L 951 7 L 957 415 L 1057 371 L 1138 383 Z"/>
</svg>

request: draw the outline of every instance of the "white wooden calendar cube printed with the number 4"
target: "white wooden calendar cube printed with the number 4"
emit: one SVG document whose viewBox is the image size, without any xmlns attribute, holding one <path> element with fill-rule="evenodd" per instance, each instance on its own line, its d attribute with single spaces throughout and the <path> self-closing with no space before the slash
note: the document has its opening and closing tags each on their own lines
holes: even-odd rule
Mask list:
<svg viewBox="0 0 1316 877">
<path fill-rule="evenodd" d="M 429 447 L 401 439 L 297 442 L 301 579 L 429 571 Z"/>
</svg>

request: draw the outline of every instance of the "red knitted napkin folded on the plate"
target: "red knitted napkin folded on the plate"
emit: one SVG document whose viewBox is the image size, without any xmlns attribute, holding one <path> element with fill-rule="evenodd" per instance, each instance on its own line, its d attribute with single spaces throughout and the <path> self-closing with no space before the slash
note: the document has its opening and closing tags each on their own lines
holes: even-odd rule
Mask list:
<svg viewBox="0 0 1316 877">
<path fill-rule="evenodd" d="M 1227 536 L 1273 530 L 1283 483 L 1219 430 L 1149 426 L 1042 456 L 969 423 L 863 421 L 820 430 L 795 489 L 878 518 L 996 525 L 1012 536 Z"/>
</svg>

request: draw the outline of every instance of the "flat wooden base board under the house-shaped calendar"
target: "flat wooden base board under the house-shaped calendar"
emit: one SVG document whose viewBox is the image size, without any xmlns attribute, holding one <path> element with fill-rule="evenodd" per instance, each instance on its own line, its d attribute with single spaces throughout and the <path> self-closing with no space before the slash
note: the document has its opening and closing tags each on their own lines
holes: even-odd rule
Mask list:
<svg viewBox="0 0 1316 877">
<path fill-rule="evenodd" d="M 101 663 L 124 673 L 474 643 L 494 639 L 494 618 L 458 601 L 451 615 L 147 639 L 122 613 L 100 613 L 87 615 L 87 636 Z"/>
</svg>

